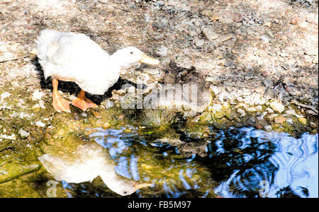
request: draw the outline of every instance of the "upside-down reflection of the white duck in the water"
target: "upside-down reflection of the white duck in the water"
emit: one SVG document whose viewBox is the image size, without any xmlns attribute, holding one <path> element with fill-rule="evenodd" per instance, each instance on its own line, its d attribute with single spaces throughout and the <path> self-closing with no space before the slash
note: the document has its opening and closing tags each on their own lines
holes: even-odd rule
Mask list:
<svg viewBox="0 0 319 212">
<path fill-rule="evenodd" d="M 115 171 L 113 160 L 97 143 L 79 146 L 69 154 L 45 154 L 38 158 L 45 169 L 56 180 L 81 183 L 100 176 L 106 186 L 121 196 L 133 194 L 138 189 L 149 187 L 149 183 L 136 183 L 120 177 Z"/>
</svg>

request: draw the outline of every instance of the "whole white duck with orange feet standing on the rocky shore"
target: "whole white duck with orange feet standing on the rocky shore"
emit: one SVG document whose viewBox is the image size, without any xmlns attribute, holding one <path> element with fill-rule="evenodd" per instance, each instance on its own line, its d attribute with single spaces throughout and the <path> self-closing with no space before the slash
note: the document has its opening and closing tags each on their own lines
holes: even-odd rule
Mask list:
<svg viewBox="0 0 319 212">
<path fill-rule="evenodd" d="M 121 68 L 138 63 L 159 64 L 140 49 L 126 47 L 111 56 L 88 36 L 42 30 L 38 40 L 38 58 L 45 78 L 52 77 L 52 105 L 57 112 L 70 112 L 69 104 L 86 110 L 97 107 L 85 97 L 85 92 L 103 95 L 120 76 Z M 79 85 L 78 98 L 69 102 L 57 93 L 58 81 L 73 81 Z"/>
</svg>

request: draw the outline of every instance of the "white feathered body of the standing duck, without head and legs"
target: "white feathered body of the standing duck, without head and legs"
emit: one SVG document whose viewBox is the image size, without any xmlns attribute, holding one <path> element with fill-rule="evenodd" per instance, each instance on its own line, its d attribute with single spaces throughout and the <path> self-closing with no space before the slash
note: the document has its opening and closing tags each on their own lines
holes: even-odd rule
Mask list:
<svg viewBox="0 0 319 212">
<path fill-rule="evenodd" d="M 36 41 L 45 78 L 74 81 L 86 92 L 103 95 L 119 78 L 121 66 L 88 36 L 43 30 Z"/>
</svg>

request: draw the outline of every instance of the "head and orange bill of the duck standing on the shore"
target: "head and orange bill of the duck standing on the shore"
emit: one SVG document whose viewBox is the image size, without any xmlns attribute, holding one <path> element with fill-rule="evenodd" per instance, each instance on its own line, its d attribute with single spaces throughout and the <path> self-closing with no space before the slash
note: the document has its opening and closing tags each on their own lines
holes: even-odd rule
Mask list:
<svg viewBox="0 0 319 212">
<path fill-rule="evenodd" d="M 112 54 L 111 58 L 119 63 L 121 66 L 132 66 L 135 64 L 143 63 L 150 65 L 157 65 L 159 61 L 152 57 L 148 57 L 140 49 L 136 47 L 125 47 L 119 49 Z"/>
</svg>

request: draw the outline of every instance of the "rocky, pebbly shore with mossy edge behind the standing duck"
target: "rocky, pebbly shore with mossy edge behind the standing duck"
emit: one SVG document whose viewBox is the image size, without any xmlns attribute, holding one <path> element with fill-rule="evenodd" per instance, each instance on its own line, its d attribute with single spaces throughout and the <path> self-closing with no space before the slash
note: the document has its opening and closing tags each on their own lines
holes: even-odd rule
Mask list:
<svg viewBox="0 0 319 212">
<path fill-rule="evenodd" d="M 4 0 L 0 23 L 0 167 L 11 170 L 16 162 L 8 161 L 23 158 L 26 168 L 0 172 L 0 184 L 39 169 L 39 144 L 85 137 L 94 127 L 182 123 L 199 137 L 208 126 L 318 133 L 318 1 Z M 84 33 L 109 53 L 132 45 L 161 64 L 123 69 L 105 95 L 91 96 L 99 108 L 58 114 L 35 56 L 44 28 Z M 138 96 L 176 93 L 165 87 L 176 84 L 197 86 L 196 107 L 167 98 L 138 109 Z M 69 100 L 79 92 L 74 83 L 60 85 Z M 123 98 L 134 108 L 123 109 Z"/>
</svg>

